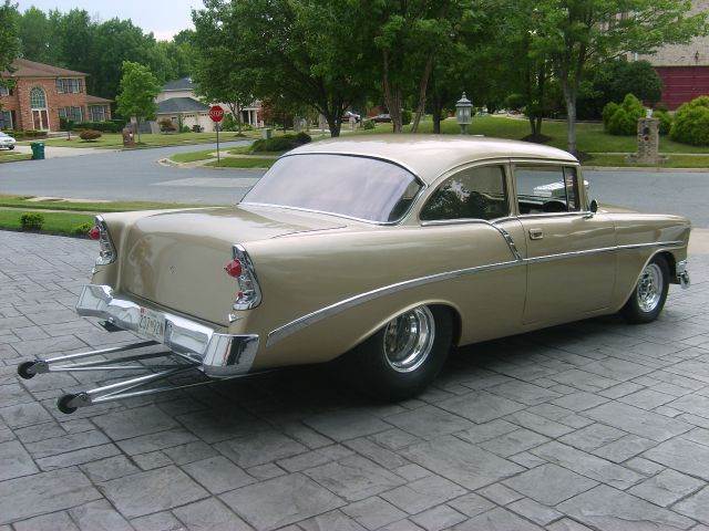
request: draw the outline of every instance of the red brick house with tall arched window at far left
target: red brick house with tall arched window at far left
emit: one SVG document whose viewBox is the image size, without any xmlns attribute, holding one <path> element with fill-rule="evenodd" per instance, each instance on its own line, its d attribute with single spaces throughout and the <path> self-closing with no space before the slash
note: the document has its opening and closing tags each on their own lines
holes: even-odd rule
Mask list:
<svg viewBox="0 0 709 531">
<path fill-rule="evenodd" d="M 59 118 L 111 119 L 111 100 L 86 94 L 83 72 L 18 59 L 12 72 L 0 72 L 0 129 L 60 131 Z"/>
</svg>

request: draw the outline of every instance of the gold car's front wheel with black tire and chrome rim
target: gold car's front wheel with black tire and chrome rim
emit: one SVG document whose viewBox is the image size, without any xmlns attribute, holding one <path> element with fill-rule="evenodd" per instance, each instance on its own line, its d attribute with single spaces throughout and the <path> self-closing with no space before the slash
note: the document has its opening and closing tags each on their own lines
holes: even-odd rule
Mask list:
<svg viewBox="0 0 709 531">
<path fill-rule="evenodd" d="M 668 290 L 669 266 L 664 257 L 655 257 L 640 273 L 638 283 L 620 313 L 630 323 L 650 323 L 665 308 Z"/>
</svg>

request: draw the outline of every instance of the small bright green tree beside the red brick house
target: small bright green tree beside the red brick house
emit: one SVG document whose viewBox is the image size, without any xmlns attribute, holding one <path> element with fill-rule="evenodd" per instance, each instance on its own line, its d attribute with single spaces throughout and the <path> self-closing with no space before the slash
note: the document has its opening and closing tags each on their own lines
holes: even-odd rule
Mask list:
<svg viewBox="0 0 709 531">
<path fill-rule="evenodd" d="M 137 142 L 141 142 L 141 119 L 152 119 L 157 105 L 155 96 L 161 91 L 157 79 L 147 66 L 131 61 L 123 61 L 123 77 L 116 97 L 119 113 L 124 117 L 135 116 L 137 123 Z"/>
</svg>

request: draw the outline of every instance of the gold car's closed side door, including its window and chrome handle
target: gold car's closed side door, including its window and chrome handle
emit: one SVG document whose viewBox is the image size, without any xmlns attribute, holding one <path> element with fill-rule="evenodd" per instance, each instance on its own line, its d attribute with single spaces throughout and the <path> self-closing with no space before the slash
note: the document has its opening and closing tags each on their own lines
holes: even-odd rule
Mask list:
<svg viewBox="0 0 709 531">
<path fill-rule="evenodd" d="M 578 168 L 518 162 L 513 174 L 527 249 L 524 324 L 607 310 L 616 277 L 615 226 L 588 211 Z"/>
</svg>

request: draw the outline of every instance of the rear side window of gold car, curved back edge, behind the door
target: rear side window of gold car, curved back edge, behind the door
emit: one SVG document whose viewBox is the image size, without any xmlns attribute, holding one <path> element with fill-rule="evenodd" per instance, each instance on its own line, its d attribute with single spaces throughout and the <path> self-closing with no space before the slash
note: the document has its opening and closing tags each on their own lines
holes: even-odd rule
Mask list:
<svg viewBox="0 0 709 531">
<path fill-rule="evenodd" d="M 503 166 L 464 169 L 446 179 L 421 210 L 423 221 L 495 219 L 510 215 Z"/>
</svg>

